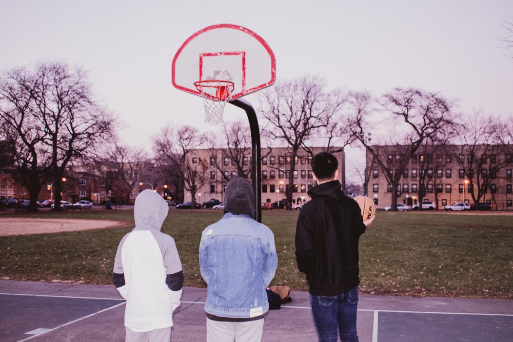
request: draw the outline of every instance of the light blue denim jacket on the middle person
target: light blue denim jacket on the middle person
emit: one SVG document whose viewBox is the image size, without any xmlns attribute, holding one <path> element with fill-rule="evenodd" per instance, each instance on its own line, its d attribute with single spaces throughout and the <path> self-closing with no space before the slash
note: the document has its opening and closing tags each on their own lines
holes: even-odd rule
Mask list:
<svg viewBox="0 0 513 342">
<path fill-rule="evenodd" d="M 278 256 L 267 226 L 249 215 L 228 212 L 203 231 L 199 257 L 208 285 L 208 314 L 252 318 L 269 310 L 266 287 L 274 278 Z"/>
</svg>

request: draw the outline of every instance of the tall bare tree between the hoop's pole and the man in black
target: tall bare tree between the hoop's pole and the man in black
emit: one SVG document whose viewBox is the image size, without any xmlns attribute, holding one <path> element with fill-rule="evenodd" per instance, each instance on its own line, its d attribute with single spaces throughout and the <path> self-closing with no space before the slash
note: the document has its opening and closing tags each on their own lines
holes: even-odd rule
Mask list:
<svg viewBox="0 0 513 342">
<path fill-rule="evenodd" d="M 261 110 L 267 124 L 263 134 L 290 147 L 290 155 L 287 156 L 290 157 L 290 177 L 285 193 L 289 203 L 292 203 L 292 175 L 298 151 L 300 148 L 309 151 L 309 143 L 325 137 L 326 132 L 329 133 L 328 137 L 337 136 L 341 129 L 337 120 L 340 120 L 338 115 L 345 103 L 345 96 L 340 90 L 327 92 L 324 80 L 316 76 L 277 82 L 261 94 Z"/>
</svg>

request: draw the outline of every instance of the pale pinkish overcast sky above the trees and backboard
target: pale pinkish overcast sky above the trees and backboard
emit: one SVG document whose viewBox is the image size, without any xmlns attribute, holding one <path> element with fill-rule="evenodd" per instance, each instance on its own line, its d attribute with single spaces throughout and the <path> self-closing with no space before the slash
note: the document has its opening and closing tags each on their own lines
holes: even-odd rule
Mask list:
<svg viewBox="0 0 513 342">
<path fill-rule="evenodd" d="M 189 36 L 215 24 L 259 34 L 278 80 L 319 75 L 328 90 L 374 95 L 416 87 L 458 100 L 469 115 L 513 115 L 513 58 L 500 41 L 511 0 L 0 0 L 0 13 L 0 68 L 52 60 L 89 71 L 132 146 L 149 148 L 165 123 L 210 129 L 202 100 L 173 88 L 171 62 Z M 245 98 L 258 110 L 256 95 Z M 239 116 L 227 110 L 227 120 Z"/>
</svg>

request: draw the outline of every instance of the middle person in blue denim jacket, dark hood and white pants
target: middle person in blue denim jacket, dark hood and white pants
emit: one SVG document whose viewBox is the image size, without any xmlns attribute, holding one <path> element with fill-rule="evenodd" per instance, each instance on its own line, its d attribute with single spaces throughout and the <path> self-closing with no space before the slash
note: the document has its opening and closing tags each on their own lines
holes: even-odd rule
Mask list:
<svg viewBox="0 0 513 342">
<path fill-rule="evenodd" d="M 223 217 L 201 234 L 201 276 L 207 283 L 207 342 L 261 341 L 269 310 L 266 287 L 278 256 L 274 234 L 254 220 L 247 179 L 228 182 Z"/>
</svg>

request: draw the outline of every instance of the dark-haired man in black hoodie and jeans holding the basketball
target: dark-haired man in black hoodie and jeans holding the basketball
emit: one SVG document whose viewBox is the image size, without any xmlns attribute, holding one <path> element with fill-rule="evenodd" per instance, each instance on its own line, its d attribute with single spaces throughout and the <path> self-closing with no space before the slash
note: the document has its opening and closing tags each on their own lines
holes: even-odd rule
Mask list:
<svg viewBox="0 0 513 342">
<path fill-rule="evenodd" d="M 319 341 L 358 341 L 358 243 L 363 222 L 356 201 L 342 191 L 338 160 L 328 152 L 312 158 L 318 183 L 299 213 L 295 234 L 298 268 L 306 274 Z"/>
</svg>

